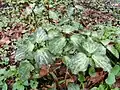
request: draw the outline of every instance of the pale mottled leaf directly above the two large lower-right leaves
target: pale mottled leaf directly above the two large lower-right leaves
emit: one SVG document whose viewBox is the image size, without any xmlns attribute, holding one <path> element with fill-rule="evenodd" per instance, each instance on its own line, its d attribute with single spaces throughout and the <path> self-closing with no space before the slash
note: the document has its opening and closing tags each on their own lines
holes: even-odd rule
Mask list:
<svg viewBox="0 0 120 90">
<path fill-rule="evenodd" d="M 83 48 L 89 53 L 94 53 L 98 47 L 99 47 L 99 44 L 94 42 L 92 38 L 88 38 L 83 43 Z"/>
</svg>

